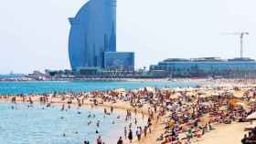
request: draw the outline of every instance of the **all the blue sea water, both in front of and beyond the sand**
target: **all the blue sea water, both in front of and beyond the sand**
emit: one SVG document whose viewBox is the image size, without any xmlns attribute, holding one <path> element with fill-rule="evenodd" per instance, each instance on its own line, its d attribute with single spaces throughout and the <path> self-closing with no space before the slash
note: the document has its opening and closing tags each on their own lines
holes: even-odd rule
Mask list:
<svg viewBox="0 0 256 144">
<path fill-rule="evenodd" d="M 114 88 L 133 89 L 140 87 L 196 87 L 196 83 L 176 82 L 0 82 L 0 94 L 49 93 L 54 91 L 91 91 Z M 35 104 L 27 108 L 27 104 L 18 103 L 12 109 L 9 102 L 0 102 L 0 143 L 2 144 L 82 144 L 84 139 L 96 143 L 96 122 L 101 120 L 100 135 L 106 144 L 114 144 L 123 135 L 123 127 L 131 121 L 124 121 L 123 114 L 113 114 L 104 118 L 102 109 L 77 108 L 60 111 L 59 106 L 45 108 Z M 89 113 L 96 118 L 88 118 Z M 121 119 L 117 116 L 121 115 Z M 63 117 L 63 118 L 62 118 Z M 88 122 L 92 121 L 91 126 Z M 112 121 L 115 124 L 112 124 Z M 144 121 L 139 125 L 144 126 Z M 76 133 L 78 132 L 78 133 Z M 63 137 L 63 133 L 66 137 Z"/>
</svg>

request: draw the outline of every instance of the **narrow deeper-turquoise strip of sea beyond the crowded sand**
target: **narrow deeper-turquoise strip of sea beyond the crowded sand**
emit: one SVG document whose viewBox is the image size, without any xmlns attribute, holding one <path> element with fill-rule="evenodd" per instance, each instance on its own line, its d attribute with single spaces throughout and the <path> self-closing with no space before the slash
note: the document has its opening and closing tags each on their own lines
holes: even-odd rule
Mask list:
<svg viewBox="0 0 256 144">
<path fill-rule="evenodd" d="M 197 83 L 185 82 L 101 82 L 101 81 L 48 81 L 48 82 L 0 82 L 0 94 L 30 94 L 133 89 L 140 87 L 196 87 Z"/>
</svg>

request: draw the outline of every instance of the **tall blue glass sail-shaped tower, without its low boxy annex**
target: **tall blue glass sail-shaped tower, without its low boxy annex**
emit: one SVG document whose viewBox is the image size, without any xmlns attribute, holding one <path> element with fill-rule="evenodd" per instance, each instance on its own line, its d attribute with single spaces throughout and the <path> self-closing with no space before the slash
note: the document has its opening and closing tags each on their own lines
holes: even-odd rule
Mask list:
<svg viewBox="0 0 256 144">
<path fill-rule="evenodd" d="M 116 0 L 90 0 L 69 22 L 72 69 L 102 68 L 104 52 L 116 51 Z"/>
</svg>

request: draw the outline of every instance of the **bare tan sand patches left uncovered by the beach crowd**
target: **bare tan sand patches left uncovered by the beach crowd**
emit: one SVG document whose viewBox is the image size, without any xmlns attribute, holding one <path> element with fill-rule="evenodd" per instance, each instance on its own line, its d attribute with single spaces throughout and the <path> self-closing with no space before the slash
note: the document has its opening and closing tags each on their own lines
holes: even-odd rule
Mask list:
<svg viewBox="0 0 256 144">
<path fill-rule="evenodd" d="M 214 83 L 215 82 L 215 83 Z M 211 85 L 214 84 L 218 84 L 218 86 L 221 84 L 224 85 L 225 87 L 227 87 L 227 89 L 231 89 L 230 87 L 234 87 L 234 86 L 240 86 L 241 84 L 238 83 L 237 81 L 233 81 L 233 83 L 227 83 L 224 81 L 209 81 L 208 82 Z M 254 83 L 253 83 L 254 84 Z M 227 86 L 228 85 L 228 86 Z M 243 87 L 254 87 L 254 85 L 245 85 Z M 185 90 L 185 89 L 181 89 L 180 90 Z M 202 88 L 200 89 L 201 91 L 205 91 L 205 92 L 210 92 L 209 94 L 213 94 L 213 92 L 216 92 L 214 90 L 212 90 L 212 88 Z M 244 90 L 243 90 L 244 92 Z M 194 92 L 195 93 L 195 92 Z M 207 93 L 205 94 L 206 96 Z M 0 98 L 0 101 L 11 101 L 11 98 Z M 16 101 L 22 101 L 21 98 L 17 98 Z M 33 97 L 33 101 L 39 101 L 39 96 L 38 97 Z M 58 104 L 67 104 L 67 101 L 61 101 L 60 98 L 52 98 L 50 99 L 50 101 L 52 101 L 53 103 L 58 103 Z M 77 106 L 77 102 L 75 102 L 75 100 L 73 100 L 73 105 Z M 86 100 L 84 102 L 83 107 L 89 107 L 93 105 L 93 103 L 89 100 Z M 98 108 L 114 108 L 115 112 L 125 112 L 126 109 L 129 109 L 133 112 L 134 108 L 132 108 L 132 106 L 130 105 L 129 102 L 123 102 L 123 101 L 118 101 L 117 103 L 111 103 L 111 102 L 105 102 L 103 105 L 99 105 Z M 138 109 L 138 113 L 140 113 L 141 111 L 144 111 L 144 118 L 148 118 L 147 116 L 147 106 L 144 106 L 144 108 L 140 108 Z M 134 113 L 133 113 L 134 114 Z M 141 118 L 141 114 L 138 114 L 138 118 Z M 142 136 L 142 140 L 141 141 L 137 141 L 135 133 L 133 132 L 133 143 L 132 144 L 160 144 L 161 142 L 156 141 L 157 138 L 159 138 L 159 136 L 161 135 L 161 133 L 164 132 L 164 126 L 161 125 L 161 123 L 165 120 L 166 118 L 161 118 L 158 123 L 156 124 L 156 122 L 153 122 L 153 126 L 152 126 L 152 133 L 148 134 L 146 138 L 144 138 L 144 135 Z M 207 118 L 206 118 L 206 121 Z M 213 125 L 214 130 L 207 132 L 202 138 L 200 139 L 195 139 L 193 141 L 193 143 L 196 144 L 240 144 L 240 140 L 243 138 L 244 134 L 248 133 L 246 131 L 244 131 L 245 127 L 250 126 L 249 123 L 237 123 L 237 122 L 233 122 L 232 124 L 216 124 Z M 123 126 L 124 127 L 124 126 Z M 116 136 L 116 140 L 119 139 L 119 136 Z M 125 144 L 129 144 L 130 142 L 126 141 L 124 142 Z"/>
</svg>

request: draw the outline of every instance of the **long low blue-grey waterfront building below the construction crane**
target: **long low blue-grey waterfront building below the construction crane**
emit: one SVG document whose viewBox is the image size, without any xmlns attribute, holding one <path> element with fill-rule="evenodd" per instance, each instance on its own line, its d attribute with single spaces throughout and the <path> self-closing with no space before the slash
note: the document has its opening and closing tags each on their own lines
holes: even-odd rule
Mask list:
<svg viewBox="0 0 256 144">
<path fill-rule="evenodd" d="M 150 66 L 150 72 L 155 75 L 173 77 L 235 76 L 255 71 L 256 62 L 251 58 L 169 58 Z"/>
</svg>

